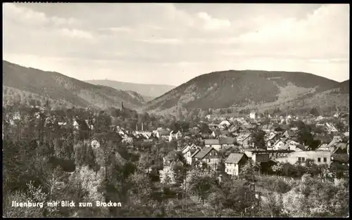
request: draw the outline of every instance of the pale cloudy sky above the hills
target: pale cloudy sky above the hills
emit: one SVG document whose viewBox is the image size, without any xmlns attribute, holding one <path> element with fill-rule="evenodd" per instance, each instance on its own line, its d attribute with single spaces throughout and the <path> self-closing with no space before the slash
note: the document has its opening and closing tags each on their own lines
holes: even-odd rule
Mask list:
<svg viewBox="0 0 352 220">
<path fill-rule="evenodd" d="M 348 4 L 3 4 L 4 60 L 180 85 L 220 70 L 349 79 Z"/>
</svg>

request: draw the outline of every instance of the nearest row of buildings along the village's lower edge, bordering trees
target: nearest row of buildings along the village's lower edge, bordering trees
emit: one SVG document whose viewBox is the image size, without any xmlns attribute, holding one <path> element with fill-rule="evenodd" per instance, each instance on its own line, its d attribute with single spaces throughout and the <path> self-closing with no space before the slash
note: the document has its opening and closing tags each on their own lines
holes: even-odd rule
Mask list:
<svg viewBox="0 0 352 220">
<path fill-rule="evenodd" d="M 220 150 L 226 148 L 225 145 L 206 145 L 201 148 L 195 144 L 187 145 L 182 150 L 182 154 L 188 164 L 207 164 L 210 169 L 217 169 L 220 163 Z M 232 148 L 232 146 L 227 146 Z M 349 142 L 340 144 L 334 151 L 324 150 L 308 150 L 308 151 L 294 151 L 294 150 L 242 150 L 239 153 L 231 153 L 225 160 L 225 172 L 232 176 L 238 176 L 241 167 L 247 160 L 260 163 L 263 172 L 268 172 L 270 167 L 278 162 L 288 162 L 296 164 L 312 160 L 315 164 L 327 164 L 330 166 L 332 162 L 340 164 L 349 164 Z M 349 165 L 348 165 L 349 166 Z"/>
</svg>

